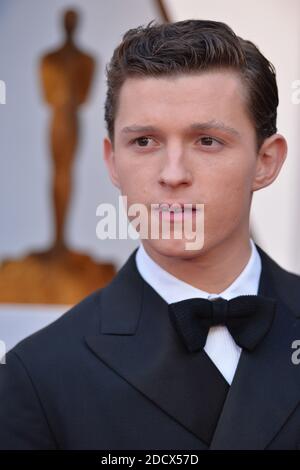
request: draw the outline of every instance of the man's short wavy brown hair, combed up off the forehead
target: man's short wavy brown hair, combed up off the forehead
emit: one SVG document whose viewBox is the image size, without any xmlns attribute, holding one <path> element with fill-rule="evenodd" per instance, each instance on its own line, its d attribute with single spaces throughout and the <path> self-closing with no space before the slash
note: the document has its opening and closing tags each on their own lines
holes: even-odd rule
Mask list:
<svg viewBox="0 0 300 470">
<path fill-rule="evenodd" d="M 275 68 L 259 49 L 225 23 L 185 20 L 127 31 L 106 67 L 105 121 L 114 139 L 120 89 L 129 77 L 158 77 L 212 69 L 236 70 L 247 93 L 247 109 L 258 148 L 277 132 L 278 89 Z"/>
</svg>

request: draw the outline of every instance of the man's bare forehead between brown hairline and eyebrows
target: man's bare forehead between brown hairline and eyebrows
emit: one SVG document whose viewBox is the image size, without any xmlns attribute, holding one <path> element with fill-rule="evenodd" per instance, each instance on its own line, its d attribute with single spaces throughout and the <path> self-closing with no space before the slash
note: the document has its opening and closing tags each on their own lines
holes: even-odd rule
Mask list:
<svg viewBox="0 0 300 470">
<path fill-rule="evenodd" d="M 205 83 L 204 83 L 205 80 Z M 226 83 L 227 82 L 227 83 Z M 185 120 L 188 130 L 218 128 L 238 136 L 231 115 L 243 107 L 240 80 L 232 71 L 174 77 L 130 77 L 123 84 L 116 121 L 123 134 L 154 132 L 161 120 Z"/>
</svg>

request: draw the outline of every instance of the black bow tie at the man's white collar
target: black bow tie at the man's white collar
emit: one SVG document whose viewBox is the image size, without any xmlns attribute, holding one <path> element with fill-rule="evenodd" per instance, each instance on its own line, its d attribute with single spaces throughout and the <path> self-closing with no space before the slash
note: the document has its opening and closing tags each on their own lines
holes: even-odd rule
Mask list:
<svg viewBox="0 0 300 470">
<path fill-rule="evenodd" d="M 193 298 L 169 304 L 175 329 L 190 352 L 204 348 L 210 327 L 225 325 L 235 342 L 253 350 L 271 328 L 276 300 L 240 295 L 231 300 Z"/>
</svg>

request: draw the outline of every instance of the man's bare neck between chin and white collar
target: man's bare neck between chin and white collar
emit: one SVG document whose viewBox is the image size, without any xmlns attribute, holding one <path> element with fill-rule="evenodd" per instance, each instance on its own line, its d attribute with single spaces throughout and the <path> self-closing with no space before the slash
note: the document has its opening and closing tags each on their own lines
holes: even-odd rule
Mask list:
<svg viewBox="0 0 300 470">
<path fill-rule="evenodd" d="M 144 243 L 147 254 L 178 279 L 205 292 L 219 294 L 239 276 L 251 256 L 250 236 L 223 240 L 194 258 L 165 256 Z"/>
</svg>

